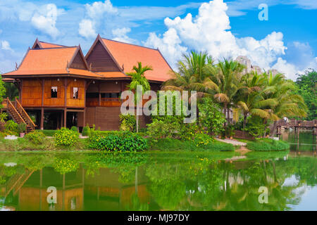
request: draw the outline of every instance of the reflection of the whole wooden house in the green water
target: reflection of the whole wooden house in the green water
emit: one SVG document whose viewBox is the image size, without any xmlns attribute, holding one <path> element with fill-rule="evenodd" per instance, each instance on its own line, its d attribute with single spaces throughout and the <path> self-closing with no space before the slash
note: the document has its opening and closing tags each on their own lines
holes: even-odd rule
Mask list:
<svg viewBox="0 0 317 225">
<path fill-rule="evenodd" d="M 85 176 L 85 169 L 59 174 L 54 168 L 46 167 L 32 171 L 26 178 L 15 174 L 5 186 L 0 187 L 0 196 L 10 198 L 16 210 L 127 210 L 132 206 L 132 196 L 137 193 L 139 203 L 149 202 L 143 172 L 139 179 L 130 183 L 120 183 L 119 174 L 111 169 L 101 168 L 99 174 Z M 14 178 L 17 177 L 17 178 Z M 136 174 L 137 177 L 137 174 Z M 12 180 L 20 180 L 20 186 L 12 185 Z M 9 184 L 10 183 L 10 184 Z M 20 184 L 19 183 L 19 184 Z M 47 203 L 47 188 L 56 187 L 57 203 Z M 85 203 L 85 205 L 84 205 Z M 14 210 L 14 208 L 12 208 Z"/>
</svg>

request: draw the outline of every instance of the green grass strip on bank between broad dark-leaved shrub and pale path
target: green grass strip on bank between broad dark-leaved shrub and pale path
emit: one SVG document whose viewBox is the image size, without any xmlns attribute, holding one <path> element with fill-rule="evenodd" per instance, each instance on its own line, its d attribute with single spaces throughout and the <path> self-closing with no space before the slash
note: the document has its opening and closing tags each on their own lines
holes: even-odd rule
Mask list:
<svg viewBox="0 0 317 225">
<path fill-rule="evenodd" d="M 211 150 L 211 151 L 233 151 L 235 147 L 230 143 L 213 141 L 206 146 L 195 146 L 192 141 L 180 141 L 178 139 L 160 139 L 159 141 L 150 141 L 150 150 Z"/>
</svg>

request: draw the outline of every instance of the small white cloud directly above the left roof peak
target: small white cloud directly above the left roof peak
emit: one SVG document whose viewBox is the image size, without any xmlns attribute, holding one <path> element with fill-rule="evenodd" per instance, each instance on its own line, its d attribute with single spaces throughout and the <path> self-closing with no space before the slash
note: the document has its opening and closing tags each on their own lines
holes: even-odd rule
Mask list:
<svg viewBox="0 0 317 225">
<path fill-rule="evenodd" d="M 56 28 L 58 10 L 56 5 L 47 4 L 42 6 L 41 10 L 37 11 L 31 19 L 32 25 L 38 30 L 49 34 L 54 39 L 58 36 L 59 31 Z"/>
</svg>

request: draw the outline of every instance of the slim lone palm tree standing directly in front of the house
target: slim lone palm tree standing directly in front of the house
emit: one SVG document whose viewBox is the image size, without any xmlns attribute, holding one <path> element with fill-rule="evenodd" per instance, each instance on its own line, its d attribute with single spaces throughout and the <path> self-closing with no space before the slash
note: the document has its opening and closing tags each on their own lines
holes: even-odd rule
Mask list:
<svg viewBox="0 0 317 225">
<path fill-rule="evenodd" d="M 135 91 L 135 104 L 138 105 L 139 101 L 141 100 L 140 97 L 137 94 L 137 86 L 142 86 L 142 94 L 144 94 L 145 91 L 149 91 L 151 89 L 151 86 L 149 84 L 149 81 L 144 76 L 144 73 L 153 70 L 153 68 L 149 65 L 146 65 L 142 67 L 141 62 L 137 62 L 137 66 L 133 66 L 132 71 L 134 72 L 128 72 L 127 75 L 131 77 L 131 82 L 128 84 L 128 88 L 130 91 Z M 138 107 L 138 106 L 137 106 Z M 137 123 L 137 132 L 139 131 L 139 116 L 135 115 L 135 120 Z"/>
</svg>

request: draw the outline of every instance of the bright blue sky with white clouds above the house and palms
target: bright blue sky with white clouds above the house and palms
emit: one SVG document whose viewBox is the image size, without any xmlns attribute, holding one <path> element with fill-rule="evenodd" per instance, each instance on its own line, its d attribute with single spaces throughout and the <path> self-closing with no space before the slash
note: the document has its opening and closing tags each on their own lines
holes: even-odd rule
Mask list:
<svg viewBox="0 0 317 225">
<path fill-rule="evenodd" d="M 267 21 L 259 4 L 268 5 Z M 0 0 L 0 72 L 13 70 L 37 37 L 85 53 L 101 34 L 159 48 L 171 65 L 190 50 L 216 60 L 245 55 L 296 79 L 317 69 L 316 22 L 315 0 Z"/>
</svg>

